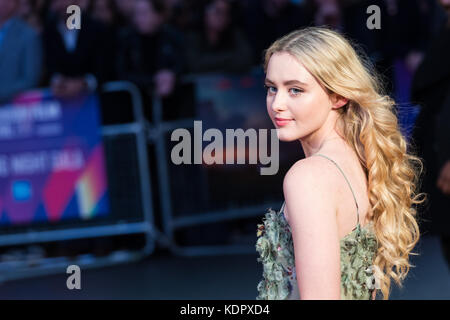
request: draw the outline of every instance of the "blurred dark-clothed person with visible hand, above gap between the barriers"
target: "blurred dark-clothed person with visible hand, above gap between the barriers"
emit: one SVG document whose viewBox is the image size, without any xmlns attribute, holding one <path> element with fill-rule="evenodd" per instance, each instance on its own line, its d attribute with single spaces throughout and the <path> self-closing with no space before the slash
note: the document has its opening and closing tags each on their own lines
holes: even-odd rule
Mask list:
<svg viewBox="0 0 450 320">
<path fill-rule="evenodd" d="M 161 98 L 173 96 L 185 58 L 180 34 L 165 23 L 164 3 L 136 0 L 134 4 L 133 27 L 120 35 L 117 74 L 142 90 L 146 113 L 151 118 L 153 92 Z"/>
</svg>

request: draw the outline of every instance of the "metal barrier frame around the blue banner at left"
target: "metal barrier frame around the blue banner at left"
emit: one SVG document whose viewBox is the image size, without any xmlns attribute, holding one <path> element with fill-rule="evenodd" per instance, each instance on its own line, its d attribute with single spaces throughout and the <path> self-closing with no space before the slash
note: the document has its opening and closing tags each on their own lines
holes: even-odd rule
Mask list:
<svg viewBox="0 0 450 320">
<path fill-rule="evenodd" d="M 66 257 L 42 258 L 38 265 L 29 266 L 28 262 L 6 261 L 0 262 L 0 281 L 65 273 L 70 264 L 77 264 L 83 268 L 102 267 L 116 263 L 136 261 L 150 255 L 155 249 L 155 240 L 164 244 L 165 236 L 154 227 L 153 204 L 151 200 L 150 171 L 147 159 L 147 122 L 142 111 L 142 98 L 139 90 L 130 82 L 118 81 L 106 83 L 102 87 L 103 93 L 123 91 L 130 95 L 132 101 L 134 121 L 131 123 L 105 125 L 101 128 L 103 137 L 114 137 L 123 134 L 133 134 L 136 137 L 136 152 L 140 177 L 140 193 L 142 200 L 143 219 L 138 222 L 115 222 L 109 225 L 85 226 L 62 230 L 33 231 L 30 228 L 24 233 L 0 234 L 0 247 L 23 244 L 39 244 L 52 241 L 73 240 L 82 238 L 98 238 L 127 234 L 145 234 L 145 246 L 141 250 L 121 252 L 105 257 L 81 255 L 79 259 Z"/>
</svg>

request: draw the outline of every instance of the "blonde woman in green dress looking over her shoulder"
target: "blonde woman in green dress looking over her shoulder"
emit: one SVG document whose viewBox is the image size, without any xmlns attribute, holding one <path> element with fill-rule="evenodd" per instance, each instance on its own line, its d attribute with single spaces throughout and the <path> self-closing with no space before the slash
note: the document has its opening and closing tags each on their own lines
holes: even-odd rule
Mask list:
<svg viewBox="0 0 450 320">
<path fill-rule="evenodd" d="M 258 225 L 257 299 L 388 299 L 419 240 L 419 158 L 367 58 L 341 34 L 294 31 L 265 53 L 267 112 L 305 159 Z"/>
</svg>

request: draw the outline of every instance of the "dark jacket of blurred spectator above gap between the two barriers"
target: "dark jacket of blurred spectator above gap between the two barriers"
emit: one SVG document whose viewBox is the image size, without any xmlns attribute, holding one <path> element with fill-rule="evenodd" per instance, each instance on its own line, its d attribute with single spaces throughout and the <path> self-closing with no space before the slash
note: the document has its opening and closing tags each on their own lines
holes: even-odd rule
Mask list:
<svg viewBox="0 0 450 320">
<path fill-rule="evenodd" d="M 163 119 L 192 116 L 193 91 L 183 86 L 179 77 L 186 70 L 183 37 L 165 24 L 152 35 L 144 35 L 135 28 L 122 29 L 116 60 L 117 77 L 133 82 L 141 91 L 145 117 L 153 121 L 152 99 L 155 75 L 169 70 L 176 76 L 174 92 L 162 98 Z M 116 117 L 117 118 L 117 117 Z"/>
</svg>

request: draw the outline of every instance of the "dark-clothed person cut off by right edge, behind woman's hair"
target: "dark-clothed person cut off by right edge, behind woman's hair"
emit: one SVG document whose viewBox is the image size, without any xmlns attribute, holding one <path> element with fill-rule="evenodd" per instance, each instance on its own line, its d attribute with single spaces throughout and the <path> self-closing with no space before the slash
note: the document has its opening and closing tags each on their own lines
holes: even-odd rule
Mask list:
<svg viewBox="0 0 450 320">
<path fill-rule="evenodd" d="M 439 2 L 447 20 L 414 75 L 411 100 L 421 105 L 413 141 L 426 168 L 423 230 L 440 237 L 450 267 L 450 0 Z"/>
</svg>

